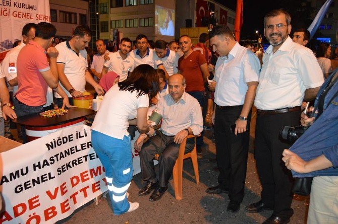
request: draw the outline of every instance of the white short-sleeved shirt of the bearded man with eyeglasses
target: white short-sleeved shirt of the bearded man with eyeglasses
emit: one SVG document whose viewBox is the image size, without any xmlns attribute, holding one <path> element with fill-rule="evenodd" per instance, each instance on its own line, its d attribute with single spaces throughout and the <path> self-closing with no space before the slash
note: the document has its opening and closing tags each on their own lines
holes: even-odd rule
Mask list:
<svg viewBox="0 0 338 224">
<path fill-rule="evenodd" d="M 312 51 L 290 37 L 273 53 L 270 45 L 263 56 L 255 106 L 260 110 L 276 110 L 300 106 L 306 89 L 324 82 Z"/>
</svg>

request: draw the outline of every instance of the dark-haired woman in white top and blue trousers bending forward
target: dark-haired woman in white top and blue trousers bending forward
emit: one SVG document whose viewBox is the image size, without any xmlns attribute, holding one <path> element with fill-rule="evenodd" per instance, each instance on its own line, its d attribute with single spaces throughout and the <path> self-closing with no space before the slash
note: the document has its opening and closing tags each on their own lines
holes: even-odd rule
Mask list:
<svg viewBox="0 0 338 224">
<path fill-rule="evenodd" d="M 139 206 L 139 203 L 127 200 L 133 177 L 131 136 L 127 128 L 133 124 L 140 133 L 153 135 L 153 129 L 147 123 L 147 110 L 149 99 L 157 93 L 158 74 L 150 65 L 141 64 L 125 81 L 108 90 L 93 121 L 91 140 L 105 169 L 115 214 L 134 211 Z"/>
</svg>

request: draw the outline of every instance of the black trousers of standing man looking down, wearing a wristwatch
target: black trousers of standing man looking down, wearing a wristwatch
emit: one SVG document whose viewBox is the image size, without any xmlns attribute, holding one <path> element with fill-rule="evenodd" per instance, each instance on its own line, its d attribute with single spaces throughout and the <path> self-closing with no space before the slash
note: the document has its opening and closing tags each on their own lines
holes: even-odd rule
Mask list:
<svg viewBox="0 0 338 224">
<path fill-rule="evenodd" d="M 216 159 L 219 169 L 218 183 L 229 189 L 229 198 L 233 202 L 242 202 L 247 170 L 249 150 L 249 127 L 251 112 L 248 115 L 247 130 L 235 135 L 230 126 L 239 118 L 243 105 L 223 107 L 216 106 L 215 139 Z"/>
</svg>

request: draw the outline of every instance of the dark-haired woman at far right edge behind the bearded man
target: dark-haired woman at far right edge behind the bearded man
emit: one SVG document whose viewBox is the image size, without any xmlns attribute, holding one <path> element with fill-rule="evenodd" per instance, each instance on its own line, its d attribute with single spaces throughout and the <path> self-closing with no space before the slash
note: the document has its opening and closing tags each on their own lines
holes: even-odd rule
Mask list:
<svg viewBox="0 0 338 224">
<path fill-rule="evenodd" d="M 332 71 L 331 61 L 328 59 L 330 55 L 331 46 L 328 43 L 321 42 L 318 46 L 316 57 L 325 79 Z"/>
</svg>

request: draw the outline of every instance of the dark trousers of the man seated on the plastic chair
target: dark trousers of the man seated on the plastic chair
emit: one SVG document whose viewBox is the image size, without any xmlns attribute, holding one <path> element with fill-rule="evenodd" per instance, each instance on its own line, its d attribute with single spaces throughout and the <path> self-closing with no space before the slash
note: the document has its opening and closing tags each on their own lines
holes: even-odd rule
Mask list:
<svg viewBox="0 0 338 224">
<path fill-rule="evenodd" d="M 185 153 L 191 152 L 194 145 L 194 138 L 187 139 Z M 159 186 L 165 187 L 179 157 L 179 147 L 180 144 L 174 142 L 174 136 L 167 136 L 156 131 L 156 135 L 144 143 L 140 152 L 142 180 L 157 182 L 153 159 L 156 154 L 160 153 L 158 181 Z"/>
</svg>

